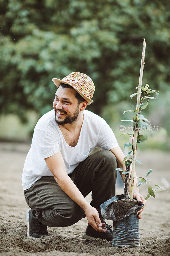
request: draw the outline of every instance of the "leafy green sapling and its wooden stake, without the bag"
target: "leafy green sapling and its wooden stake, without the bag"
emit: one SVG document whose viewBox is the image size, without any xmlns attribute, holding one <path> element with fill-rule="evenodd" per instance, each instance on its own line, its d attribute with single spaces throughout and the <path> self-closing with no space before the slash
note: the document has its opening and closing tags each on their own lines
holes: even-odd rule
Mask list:
<svg viewBox="0 0 170 256">
<path fill-rule="evenodd" d="M 139 76 L 139 85 L 136 87 L 138 89 L 138 92 L 133 93 L 130 95 L 131 99 L 135 95 L 137 95 L 137 104 L 132 105 L 136 106 L 136 109 L 132 110 L 125 110 L 124 113 L 126 112 L 135 112 L 135 115 L 133 116 L 133 120 L 128 119 L 128 120 L 121 120 L 123 122 L 131 122 L 133 124 L 133 133 L 122 133 L 121 135 L 128 134 L 132 139 L 132 144 L 129 142 L 124 143 L 124 148 L 128 147 L 129 152 L 127 156 L 123 159 L 122 162 L 125 161 L 125 166 L 126 166 L 126 171 L 122 168 L 116 168 L 115 170 L 122 171 L 122 174 L 125 174 L 125 183 L 124 183 L 124 196 L 123 199 L 128 199 L 128 187 L 130 184 L 130 199 L 133 199 L 133 189 L 134 189 L 134 172 L 135 172 L 135 163 L 141 164 L 139 160 L 136 160 L 136 151 L 137 151 L 137 145 L 138 143 L 144 142 L 147 138 L 144 135 L 140 135 L 139 130 L 141 128 L 144 128 L 145 130 L 150 127 L 150 121 L 148 121 L 143 115 L 141 115 L 141 111 L 145 109 L 148 106 L 149 100 L 150 99 L 155 99 L 152 97 L 153 93 L 156 93 L 156 97 L 159 95 L 159 91 L 152 90 L 149 88 L 149 85 L 146 84 L 145 86 L 142 86 L 142 77 L 143 77 L 143 69 L 144 69 L 144 56 L 145 56 L 145 48 L 146 48 L 146 43 L 145 39 L 143 41 L 143 52 L 142 52 L 142 60 L 141 60 L 141 68 L 140 68 L 140 76 Z M 142 90 L 142 91 L 141 91 Z M 123 113 L 123 114 L 124 114 Z M 149 123 L 149 124 L 148 124 Z M 133 152 L 133 153 L 132 153 Z M 131 154 L 132 153 L 132 154 Z M 130 169 L 130 164 L 132 164 L 132 171 L 129 177 L 129 169 Z M 148 171 L 146 174 L 146 177 L 152 172 L 152 169 Z M 147 183 L 150 182 L 148 178 L 143 178 L 140 177 L 141 180 L 137 182 L 137 186 L 140 186 L 142 183 Z M 148 184 L 148 195 L 146 196 L 146 200 L 150 197 L 153 196 L 155 197 L 155 191 L 157 191 L 159 188 L 166 190 L 160 185 L 155 185 L 157 188 L 154 190 L 149 184 Z"/>
</svg>

